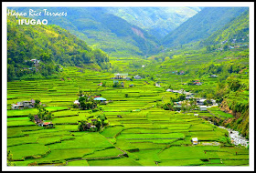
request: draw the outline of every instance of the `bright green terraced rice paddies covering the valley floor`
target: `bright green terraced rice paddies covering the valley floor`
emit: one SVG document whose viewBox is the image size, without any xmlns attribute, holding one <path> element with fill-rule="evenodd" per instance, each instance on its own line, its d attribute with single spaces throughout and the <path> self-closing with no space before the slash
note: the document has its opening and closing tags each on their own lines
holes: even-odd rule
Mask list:
<svg viewBox="0 0 256 173">
<path fill-rule="evenodd" d="M 155 107 L 165 89 L 144 80 L 112 87 L 111 74 L 66 71 L 50 80 L 8 82 L 7 108 L 17 101 L 39 99 L 52 112 L 55 128 L 37 127 L 28 119 L 37 109 L 7 110 L 7 149 L 16 166 L 248 166 L 249 150 L 227 142 L 228 131 L 200 116 Z M 69 73 L 69 74 L 68 74 Z M 107 86 L 97 86 L 106 81 Z M 129 87 L 129 84 L 135 86 Z M 72 108 L 82 88 L 112 103 L 102 111 Z M 128 97 L 125 97 L 128 94 Z M 218 111 L 218 110 L 216 110 Z M 100 132 L 79 132 L 86 117 L 104 113 L 110 125 Z M 198 145 L 191 139 L 197 137 Z M 219 142 L 219 145 L 211 145 Z M 208 146 L 204 144 L 208 143 Z"/>
</svg>

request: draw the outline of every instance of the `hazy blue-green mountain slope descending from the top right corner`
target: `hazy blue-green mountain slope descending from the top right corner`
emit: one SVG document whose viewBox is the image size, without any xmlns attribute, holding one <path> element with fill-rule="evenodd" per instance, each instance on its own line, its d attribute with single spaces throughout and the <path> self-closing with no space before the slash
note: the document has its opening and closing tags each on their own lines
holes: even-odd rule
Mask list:
<svg viewBox="0 0 256 173">
<path fill-rule="evenodd" d="M 246 10 L 246 7 L 206 7 L 165 36 L 163 44 L 176 46 L 205 39 Z"/>
</svg>

